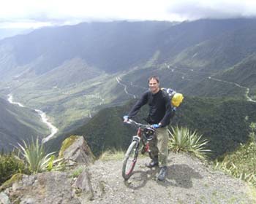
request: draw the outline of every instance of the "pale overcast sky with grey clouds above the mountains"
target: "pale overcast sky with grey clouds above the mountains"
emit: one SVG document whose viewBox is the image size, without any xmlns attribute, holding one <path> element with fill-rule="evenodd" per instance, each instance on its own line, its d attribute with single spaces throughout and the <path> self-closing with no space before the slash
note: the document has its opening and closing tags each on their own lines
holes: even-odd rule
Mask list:
<svg viewBox="0 0 256 204">
<path fill-rule="evenodd" d="M 255 0 L 0 0 L 0 5 L 0 28 L 256 16 Z"/>
</svg>

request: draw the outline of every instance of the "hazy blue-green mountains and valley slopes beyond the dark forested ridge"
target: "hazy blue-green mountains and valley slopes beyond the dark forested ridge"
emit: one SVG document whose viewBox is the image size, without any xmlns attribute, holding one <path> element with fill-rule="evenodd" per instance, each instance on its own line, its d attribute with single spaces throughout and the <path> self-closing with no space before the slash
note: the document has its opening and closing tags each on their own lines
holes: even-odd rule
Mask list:
<svg viewBox="0 0 256 204">
<path fill-rule="evenodd" d="M 152 75 L 184 95 L 253 101 L 255 28 L 246 18 L 41 28 L 0 41 L 0 95 L 45 111 L 57 139 L 138 98 Z"/>
</svg>

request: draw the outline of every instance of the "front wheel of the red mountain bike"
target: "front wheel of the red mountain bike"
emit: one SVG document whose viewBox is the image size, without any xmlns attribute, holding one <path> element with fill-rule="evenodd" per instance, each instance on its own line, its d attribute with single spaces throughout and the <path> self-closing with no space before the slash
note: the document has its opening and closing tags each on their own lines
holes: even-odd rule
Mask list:
<svg viewBox="0 0 256 204">
<path fill-rule="evenodd" d="M 138 141 L 132 141 L 125 153 L 122 176 L 124 181 L 127 181 L 132 176 L 132 171 L 135 168 L 138 157 Z"/>
</svg>

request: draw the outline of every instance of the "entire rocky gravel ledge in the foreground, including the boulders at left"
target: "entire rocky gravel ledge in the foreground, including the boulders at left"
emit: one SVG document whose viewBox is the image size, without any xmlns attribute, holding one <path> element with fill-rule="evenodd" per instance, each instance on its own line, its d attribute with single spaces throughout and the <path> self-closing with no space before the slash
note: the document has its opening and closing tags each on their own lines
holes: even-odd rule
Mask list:
<svg viewBox="0 0 256 204">
<path fill-rule="evenodd" d="M 122 159 L 94 162 L 83 137 L 69 141 L 73 144 L 61 151 L 75 168 L 15 175 L 0 187 L 0 203 L 256 203 L 255 189 L 244 181 L 187 154 L 170 153 L 165 181 L 157 181 L 158 168 L 145 167 L 148 157 L 139 157 L 124 181 Z"/>
</svg>

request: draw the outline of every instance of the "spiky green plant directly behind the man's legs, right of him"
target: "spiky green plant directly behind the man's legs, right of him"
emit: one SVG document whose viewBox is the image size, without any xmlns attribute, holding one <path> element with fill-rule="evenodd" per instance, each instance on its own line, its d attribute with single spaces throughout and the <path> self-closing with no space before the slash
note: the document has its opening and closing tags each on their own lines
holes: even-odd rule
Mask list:
<svg viewBox="0 0 256 204">
<path fill-rule="evenodd" d="M 171 127 L 170 133 L 170 150 L 173 152 L 189 152 L 200 159 L 205 159 L 211 152 L 206 149 L 208 140 L 203 139 L 197 131 L 191 132 L 187 127 Z"/>
</svg>

